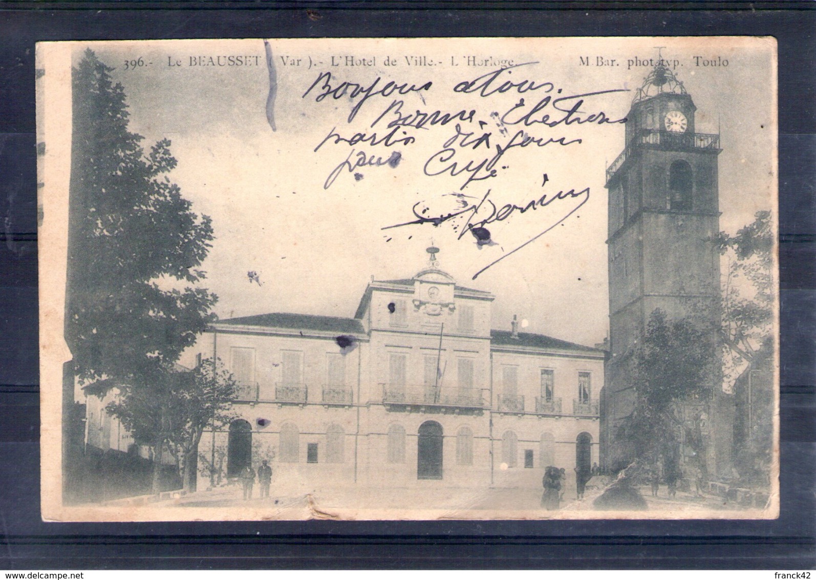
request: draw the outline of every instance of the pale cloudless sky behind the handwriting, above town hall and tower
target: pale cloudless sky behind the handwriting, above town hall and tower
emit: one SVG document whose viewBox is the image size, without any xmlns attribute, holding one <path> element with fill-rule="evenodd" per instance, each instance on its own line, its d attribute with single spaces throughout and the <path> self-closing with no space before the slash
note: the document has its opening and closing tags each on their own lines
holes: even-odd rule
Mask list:
<svg viewBox="0 0 816 580">
<path fill-rule="evenodd" d="M 623 149 L 621 124 L 593 126 L 528 127 L 530 136 L 580 138 L 580 145 L 516 148 L 504 155 L 499 176 L 477 181 L 462 193 L 525 205 L 548 191 L 590 188 L 588 202 L 548 234 L 499 262 L 476 280 L 472 275 L 539 234 L 574 207 L 565 200 L 546 209 L 514 215 L 487 225 L 496 246 L 478 249 L 470 234 L 461 240 L 450 223 L 393 230 L 383 226 L 410 221 L 411 206 L 430 200 L 440 207 L 443 197 L 459 190 L 462 177 L 425 176 L 423 166 L 442 143 L 455 134 L 455 123 L 429 129 L 407 129 L 416 141 L 410 145 L 371 147 L 356 145 L 388 158 L 399 150 L 396 168 L 365 167 L 355 181 L 344 172 L 324 190 L 331 170 L 347 158 L 349 145 L 323 145 L 313 149 L 332 127 L 344 137 L 373 132 L 370 123 L 398 96 L 372 96 L 357 118 L 347 123 L 351 107 L 359 100 L 348 96 L 314 102 L 313 91 L 301 98 L 317 75 L 329 70 L 333 85 L 346 80 L 382 87 L 389 80 L 421 85 L 429 91 L 401 97 L 403 111 L 437 109 L 451 113 L 476 109 L 477 120 L 493 132 L 490 145 L 503 143 L 492 111 L 504 112 L 523 96 L 532 105 L 543 91 L 519 95 L 479 97 L 455 94 L 452 87 L 499 67 L 465 65 L 466 56 L 510 59 L 516 64 L 538 61 L 513 69 L 513 82 L 550 81 L 562 95 L 610 89 L 612 93 L 588 100 L 582 112 L 603 110 L 610 118 L 628 112 L 633 91 L 649 73 L 649 66 L 632 66 L 628 60 L 654 58 L 655 46 L 667 59 L 676 59 L 678 78 L 685 83 L 697 106 L 696 130 L 721 132 L 720 207 L 721 230 L 734 232 L 752 221 L 758 209 L 774 208 L 775 192 L 775 69 L 769 41 L 750 38 L 584 38 L 584 39 L 469 39 L 469 40 L 274 40 L 277 62 L 277 132 L 267 123 L 265 105 L 268 73 L 260 40 L 91 42 L 78 44 L 74 60 L 91 46 L 125 87 L 131 110 L 131 131 L 153 142 L 171 139 L 178 167 L 171 180 L 178 183 L 193 209 L 210 215 L 215 228 L 214 247 L 204 265 L 204 284 L 220 296 L 215 311 L 222 318 L 265 312 L 353 316 L 366 283 L 376 279 L 410 278 L 427 263 L 424 248 L 431 239 L 441 248 L 440 265 L 458 283 L 494 292 L 493 328 L 509 328 L 513 314 L 529 321 L 529 332 L 592 345 L 607 332 L 606 190 L 605 166 Z M 189 66 L 190 56 L 259 56 L 261 66 Z M 332 67 L 330 56 L 377 57 L 376 67 Z M 142 57 L 152 65 L 125 70 L 124 61 Z M 281 56 L 300 58 L 306 66 L 284 66 Z M 386 56 L 399 65 L 384 66 Z M 408 66 L 405 56 L 427 56 L 441 65 Z M 450 66 L 451 56 L 459 66 Z M 579 65 L 589 56 L 590 66 Z M 596 66 L 596 57 L 616 59 L 620 66 Z M 694 56 L 729 60 L 727 67 L 695 66 Z M 168 67 L 180 60 L 182 66 Z M 318 60 L 324 65 L 317 66 Z M 505 77 L 503 77 L 505 78 Z M 552 111 L 551 111 L 552 114 Z M 478 131 L 477 123 L 465 123 Z M 378 130 L 380 136 L 384 131 Z M 517 127 L 511 127 L 515 132 Z M 481 132 L 476 136 L 481 135 Z M 481 149 L 481 148 L 480 148 Z M 458 159 L 492 156 L 471 149 L 457 152 Z M 469 157 L 468 157 L 469 156 Z M 549 177 L 542 188 L 542 174 Z M 572 204 L 572 205 L 570 205 Z M 390 241 L 387 241 L 390 239 Z M 255 270 L 263 285 L 250 283 Z"/>
</svg>

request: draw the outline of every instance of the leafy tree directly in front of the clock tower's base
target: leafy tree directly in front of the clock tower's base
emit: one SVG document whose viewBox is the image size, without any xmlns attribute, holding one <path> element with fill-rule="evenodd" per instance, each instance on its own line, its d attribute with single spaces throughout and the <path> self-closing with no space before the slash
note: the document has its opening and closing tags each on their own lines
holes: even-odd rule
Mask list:
<svg viewBox="0 0 816 580">
<path fill-rule="evenodd" d="M 705 457 L 704 409 L 716 377 L 713 343 L 712 333 L 690 320 L 652 312 L 629 368 L 636 401 L 620 434 L 629 441 L 628 462 L 654 463 L 663 456 L 664 465 L 676 465 L 681 440 Z M 702 461 L 700 467 L 705 469 Z"/>
</svg>

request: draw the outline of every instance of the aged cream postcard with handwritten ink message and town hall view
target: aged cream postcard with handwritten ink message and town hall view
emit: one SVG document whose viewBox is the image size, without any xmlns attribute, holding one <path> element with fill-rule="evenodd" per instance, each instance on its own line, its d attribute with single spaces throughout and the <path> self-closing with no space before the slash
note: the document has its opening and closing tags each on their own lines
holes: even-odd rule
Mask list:
<svg viewBox="0 0 816 580">
<path fill-rule="evenodd" d="M 777 517 L 773 38 L 37 51 L 45 519 Z"/>
</svg>

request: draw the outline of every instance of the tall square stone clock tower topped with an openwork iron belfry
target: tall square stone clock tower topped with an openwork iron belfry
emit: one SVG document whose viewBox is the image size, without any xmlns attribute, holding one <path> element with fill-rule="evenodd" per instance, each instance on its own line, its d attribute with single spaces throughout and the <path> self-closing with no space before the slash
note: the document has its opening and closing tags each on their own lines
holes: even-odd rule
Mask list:
<svg viewBox="0 0 816 580">
<path fill-rule="evenodd" d="M 607 468 L 632 459 L 619 429 L 635 404 L 630 365 L 651 313 L 660 309 L 669 319 L 690 319 L 717 344 L 720 255 L 712 239 L 720 231 L 720 136 L 696 132 L 695 112 L 683 83 L 660 60 L 636 91 L 623 152 L 606 170 L 610 357 L 601 400 L 601 457 Z M 715 393 L 721 390 L 719 374 L 717 369 L 712 376 Z M 716 413 L 708 407 L 689 413 L 702 425 L 703 469 L 720 471 L 716 448 L 730 442 L 714 440 Z M 681 444 L 676 460 L 686 462 L 689 454 Z"/>
</svg>

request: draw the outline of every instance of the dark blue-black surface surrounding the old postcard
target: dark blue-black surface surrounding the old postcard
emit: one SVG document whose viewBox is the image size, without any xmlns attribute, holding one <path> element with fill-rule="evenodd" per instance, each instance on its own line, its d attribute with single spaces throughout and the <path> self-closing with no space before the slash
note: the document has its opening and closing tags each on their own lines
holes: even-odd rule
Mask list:
<svg viewBox="0 0 816 580">
<path fill-rule="evenodd" d="M 0 2 L 0 569 L 813 569 L 816 12 L 795 2 Z M 417 10 L 418 6 L 424 7 Z M 237 7 L 237 8 L 236 8 Z M 784 7 L 778 10 L 778 7 Z M 720 8 L 724 10 L 712 10 Z M 739 521 L 57 524 L 39 510 L 34 43 L 773 35 L 779 49 L 781 515 Z M 757 87 L 766 90 L 766 87 Z"/>
</svg>

